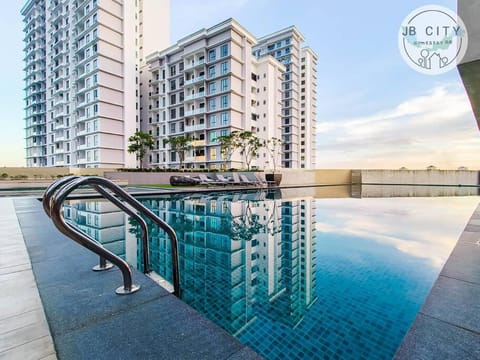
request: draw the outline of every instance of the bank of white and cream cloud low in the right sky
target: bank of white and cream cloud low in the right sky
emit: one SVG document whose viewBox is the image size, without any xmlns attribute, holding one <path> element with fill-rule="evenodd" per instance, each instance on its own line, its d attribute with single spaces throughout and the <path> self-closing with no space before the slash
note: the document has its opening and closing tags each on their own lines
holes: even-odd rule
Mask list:
<svg viewBox="0 0 480 360">
<path fill-rule="evenodd" d="M 317 167 L 441 168 L 480 163 L 480 133 L 459 86 L 438 86 L 392 109 L 319 121 Z"/>
</svg>

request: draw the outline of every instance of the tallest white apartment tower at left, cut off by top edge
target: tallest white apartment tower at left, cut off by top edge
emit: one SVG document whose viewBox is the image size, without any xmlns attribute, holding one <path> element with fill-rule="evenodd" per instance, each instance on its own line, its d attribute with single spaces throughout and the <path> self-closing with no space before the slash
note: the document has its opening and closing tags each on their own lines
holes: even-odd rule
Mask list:
<svg viewBox="0 0 480 360">
<path fill-rule="evenodd" d="M 135 166 L 144 53 L 168 46 L 169 0 L 29 0 L 27 166 Z"/>
</svg>

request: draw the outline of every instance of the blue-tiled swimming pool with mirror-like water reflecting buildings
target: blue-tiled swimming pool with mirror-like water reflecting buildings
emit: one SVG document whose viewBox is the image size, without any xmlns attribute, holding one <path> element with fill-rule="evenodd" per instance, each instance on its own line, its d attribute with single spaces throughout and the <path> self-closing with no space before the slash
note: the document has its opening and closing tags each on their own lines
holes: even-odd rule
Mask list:
<svg viewBox="0 0 480 360">
<path fill-rule="evenodd" d="M 265 358 L 390 359 L 479 197 L 367 189 L 141 201 L 177 232 L 182 299 Z M 65 215 L 141 266 L 138 229 L 114 206 L 72 202 Z M 169 241 L 150 233 L 151 267 L 168 279 Z"/>
</svg>

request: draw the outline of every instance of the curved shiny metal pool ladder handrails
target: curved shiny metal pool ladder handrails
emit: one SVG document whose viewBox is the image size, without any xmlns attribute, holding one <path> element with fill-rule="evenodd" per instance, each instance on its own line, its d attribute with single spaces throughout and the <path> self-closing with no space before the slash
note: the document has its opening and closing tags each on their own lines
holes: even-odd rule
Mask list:
<svg viewBox="0 0 480 360">
<path fill-rule="evenodd" d="M 105 199 L 118 206 L 140 224 L 142 230 L 143 272 L 145 274 L 151 272 L 149 267 L 148 228 L 147 223 L 139 213 L 148 217 L 167 233 L 170 238 L 172 249 L 173 294 L 180 296 L 178 239 L 173 228 L 120 186 L 108 179 L 98 176 L 66 176 L 53 182 L 47 190 L 45 190 L 42 199 L 43 209 L 61 233 L 100 256 L 100 265 L 95 266 L 93 270 L 100 271 L 110 269 L 113 265 L 107 263 L 108 260 L 116 265 L 122 272 L 123 286 L 120 286 L 115 290 L 117 294 L 132 294 L 140 289 L 140 285 L 132 283 L 132 271 L 125 260 L 105 249 L 95 241 L 95 239 L 65 221 L 62 214 L 63 202 L 70 193 L 80 186 L 91 186 Z"/>
</svg>

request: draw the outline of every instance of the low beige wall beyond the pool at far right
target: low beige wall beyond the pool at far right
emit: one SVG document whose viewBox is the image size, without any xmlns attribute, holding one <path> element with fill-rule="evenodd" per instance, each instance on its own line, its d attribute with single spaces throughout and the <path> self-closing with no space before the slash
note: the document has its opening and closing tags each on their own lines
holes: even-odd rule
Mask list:
<svg viewBox="0 0 480 360">
<path fill-rule="evenodd" d="M 352 178 L 363 184 L 479 185 L 479 171 L 468 170 L 352 170 Z"/>
</svg>

